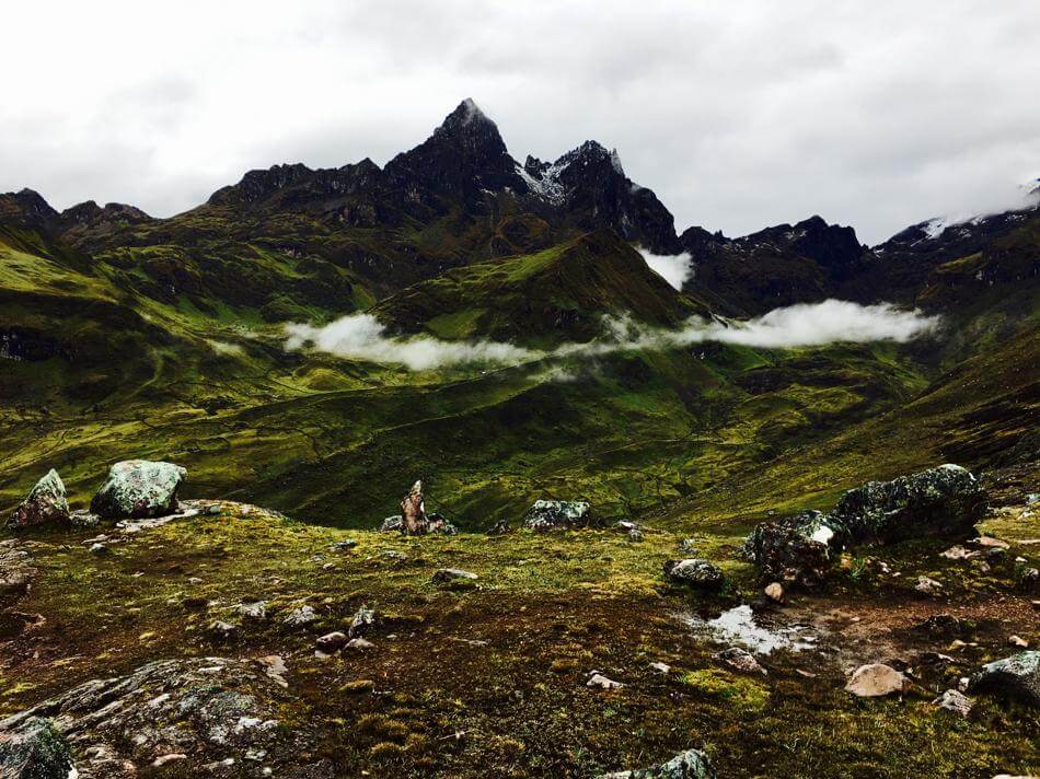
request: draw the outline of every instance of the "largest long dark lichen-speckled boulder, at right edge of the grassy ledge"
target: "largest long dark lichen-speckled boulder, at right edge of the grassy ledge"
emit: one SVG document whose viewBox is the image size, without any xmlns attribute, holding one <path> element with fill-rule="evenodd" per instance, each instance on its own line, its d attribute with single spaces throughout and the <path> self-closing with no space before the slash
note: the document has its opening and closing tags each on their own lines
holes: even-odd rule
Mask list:
<svg viewBox="0 0 1040 779">
<path fill-rule="evenodd" d="M 851 489 L 834 507 L 854 543 L 892 544 L 931 535 L 970 534 L 982 519 L 986 493 L 959 465 L 940 465 L 891 481 Z"/>
</svg>

